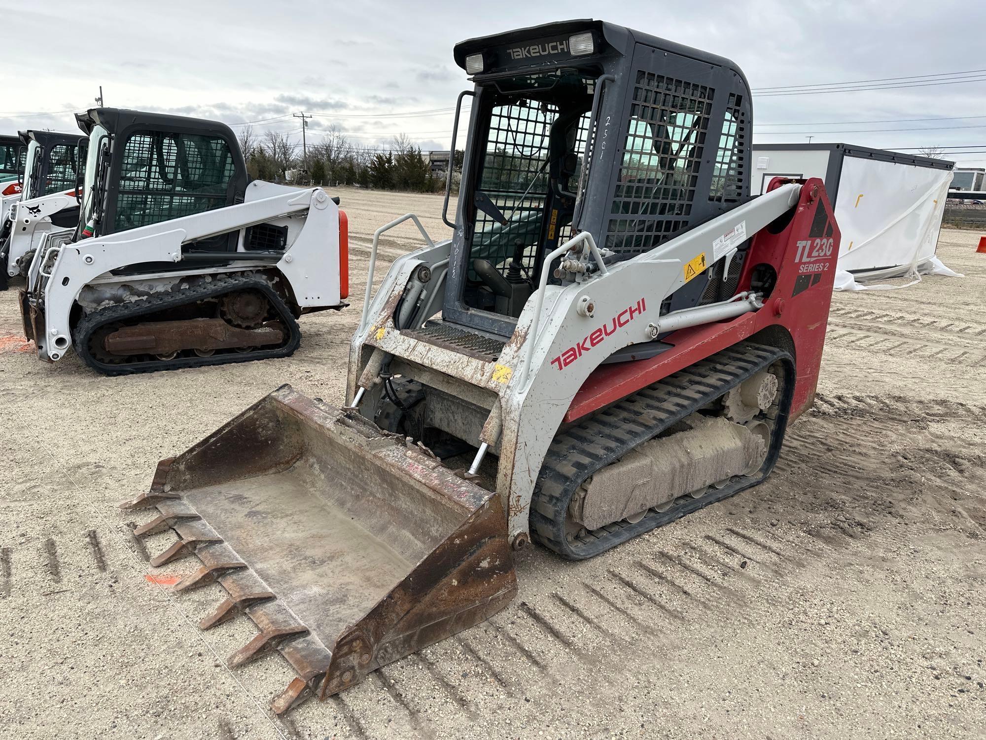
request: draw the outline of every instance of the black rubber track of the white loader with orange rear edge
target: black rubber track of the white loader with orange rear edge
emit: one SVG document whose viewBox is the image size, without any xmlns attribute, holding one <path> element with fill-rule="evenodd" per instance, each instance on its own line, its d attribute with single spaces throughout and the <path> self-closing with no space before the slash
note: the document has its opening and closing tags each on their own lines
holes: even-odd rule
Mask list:
<svg viewBox="0 0 986 740">
<path fill-rule="evenodd" d="M 90 337 L 96 330 L 106 324 L 118 321 L 130 321 L 135 317 L 158 313 L 159 311 L 176 306 L 196 303 L 209 298 L 217 298 L 224 293 L 246 289 L 259 290 L 266 296 L 271 307 L 278 314 L 278 321 L 284 325 L 289 333 L 286 344 L 273 349 L 257 349 L 252 352 L 229 351 L 222 354 L 214 354 L 211 357 L 194 356 L 176 357 L 172 360 L 141 360 L 131 364 L 124 363 L 119 365 L 101 362 L 93 357 L 89 351 Z M 237 275 L 217 277 L 203 285 L 182 288 L 176 291 L 166 291 L 149 296 L 148 298 L 142 298 L 139 301 L 118 303 L 98 309 L 87 314 L 76 326 L 75 332 L 72 335 L 72 341 L 79 356 L 91 368 L 105 375 L 131 375 L 134 373 L 156 372 L 158 370 L 180 370 L 186 367 L 250 362 L 252 360 L 263 360 L 271 357 L 289 357 L 298 349 L 301 340 L 302 334 L 298 322 L 295 321 L 295 317 L 292 316 L 291 311 L 273 287 L 271 287 L 270 283 L 257 277 Z"/>
</svg>

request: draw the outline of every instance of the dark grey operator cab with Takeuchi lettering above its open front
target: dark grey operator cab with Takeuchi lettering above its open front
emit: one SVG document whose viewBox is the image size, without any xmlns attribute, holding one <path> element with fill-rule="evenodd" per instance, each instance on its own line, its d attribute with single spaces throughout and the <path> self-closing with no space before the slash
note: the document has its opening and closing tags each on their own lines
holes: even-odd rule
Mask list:
<svg viewBox="0 0 986 740">
<path fill-rule="evenodd" d="M 472 106 L 445 322 L 508 337 L 544 257 L 578 232 L 629 259 L 746 198 L 749 89 L 728 59 L 589 20 L 473 38 L 455 55 L 475 86 L 459 98 Z M 663 313 L 731 297 L 743 255 Z"/>
</svg>

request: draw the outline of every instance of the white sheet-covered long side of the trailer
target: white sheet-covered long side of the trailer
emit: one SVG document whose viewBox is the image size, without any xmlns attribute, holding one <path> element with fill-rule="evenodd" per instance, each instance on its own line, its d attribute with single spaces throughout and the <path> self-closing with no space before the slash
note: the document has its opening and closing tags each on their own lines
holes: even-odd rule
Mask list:
<svg viewBox="0 0 986 740">
<path fill-rule="evenodd" d="M 948 170 L 846 157 L 835 205 L 839 269 L 889 276 L 927 264 L 935 257 L 950 182 Z"/>
</svg>

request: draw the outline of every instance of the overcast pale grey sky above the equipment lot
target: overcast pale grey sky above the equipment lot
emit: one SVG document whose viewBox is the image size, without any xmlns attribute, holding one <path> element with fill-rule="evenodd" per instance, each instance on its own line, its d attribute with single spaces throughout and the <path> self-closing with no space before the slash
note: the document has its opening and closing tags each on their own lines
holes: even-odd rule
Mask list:
<svg viewBox="0 0 986 740">
<path fill-rule="evenodd" d="M 981 69 L 965 75 L 981 81 L 756 96 L 754 140 L 807 142 L 813 135 L 884 148 L 957 146 L 984 152 L 950 157 L 960 166 L 986 166 L 986 3 L 975 0 L 239 0 L 228 9 L 208 0 L 0 0 L 0 130 L 74 130 L 71 114 L 55 111 L 91 107 L 102 84 L 112 107 L 233 125 L 274 119 L 254 129 L 294 131 L 299 141 L 300 121 L 290 114 L 304 110 L 318 114 L 310 141 L 335 124 L 368 147 L 404 132 L 422 149 L 448 148 L 451 112 L 392 114 L 455 105 L 467 83 L 453 45 L 579 17 L 731 57 L 754 90 Z"/>
</svg>

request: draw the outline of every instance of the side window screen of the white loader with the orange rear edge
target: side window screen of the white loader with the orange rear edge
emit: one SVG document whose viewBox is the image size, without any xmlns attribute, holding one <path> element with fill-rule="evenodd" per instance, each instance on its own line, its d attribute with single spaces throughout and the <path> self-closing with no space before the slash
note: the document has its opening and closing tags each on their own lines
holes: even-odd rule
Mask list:
<svg viewBox="0 0 986 740">
<path fill-rule="evenodd" d="M 123 149 L 116 231 L 190 216 L 227 204 L 236 165 L 219 136 L 138 131 Z"/>
</svg>

